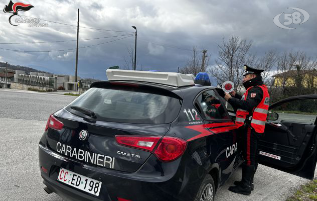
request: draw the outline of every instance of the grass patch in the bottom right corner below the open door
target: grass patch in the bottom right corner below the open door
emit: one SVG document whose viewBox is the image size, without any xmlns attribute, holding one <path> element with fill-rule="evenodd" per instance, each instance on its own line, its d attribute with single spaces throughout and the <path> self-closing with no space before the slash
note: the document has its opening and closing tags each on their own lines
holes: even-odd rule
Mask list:
<svg viewBox="0 0 317 201">
<path fill-rule="evenodd" d="M 317 179 L 301 185 L 292 196 L 288 197 L 286 201 L 317 201 Z"/>
</svg>

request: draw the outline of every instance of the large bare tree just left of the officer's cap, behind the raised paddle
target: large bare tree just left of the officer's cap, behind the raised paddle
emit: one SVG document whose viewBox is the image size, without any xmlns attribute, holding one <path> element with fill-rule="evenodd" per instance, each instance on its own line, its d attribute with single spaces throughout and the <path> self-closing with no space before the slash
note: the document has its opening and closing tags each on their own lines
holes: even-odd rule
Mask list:
<svg viewBox="0 0 317 201">
<path fill-rule="evenodd" d="M 251 41 L 240 40 L 239 37 L 232 36 L 228 42 L 223 37 L 222 44 L 218 45 L 220 50 L 216 66 L 209 68 L 209 72 L 221 82 L 232 81 L 237 90 L 242 80 L 243 65 L 254 66 L 257 63 L 256 57 L 248 54 L 251 45 Z"/>
</svg>

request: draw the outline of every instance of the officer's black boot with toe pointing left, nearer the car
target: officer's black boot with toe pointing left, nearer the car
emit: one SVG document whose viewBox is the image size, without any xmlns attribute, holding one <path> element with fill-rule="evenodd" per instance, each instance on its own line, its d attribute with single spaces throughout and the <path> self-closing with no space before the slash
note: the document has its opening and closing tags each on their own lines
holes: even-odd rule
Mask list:
<svg viewBox="0 0 317 201">
<path fill-rule="evenodd" d="M 242 169 L 241 184 L 237 186 L 230 186 L 228 189 L 235 193 L 244 195 L 251 194 L 251 178 L 254 175 L 254 165 L 245 165 Z"/>
</svg>

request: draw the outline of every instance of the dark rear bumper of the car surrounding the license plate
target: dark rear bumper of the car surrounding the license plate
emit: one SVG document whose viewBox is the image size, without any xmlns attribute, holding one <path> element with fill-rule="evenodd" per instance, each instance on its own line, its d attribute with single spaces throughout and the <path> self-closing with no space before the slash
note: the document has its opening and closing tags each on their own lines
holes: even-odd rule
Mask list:
<svg viewBox="0 0 317 201">
<path fill-rule="evenodd" d="M 55 153 L 41 143 L 39 145 L 40 168 L 43 166 L 48 170 L 46 173 L 41 169 L 43 183 L 66 200 L 117 201 L 117 197 L 132 201 L 191 200 L 188 188 L 195 192 L 196 187 L 192 186 L 199 186 L 199 180 L 189 182 L 183 165 L 180 165 L 181 158 L 162 163 L 151 155 L 138 171 L 126 173 L 79 163 Z M 101 181 L 99 196 L 57 181 L 60 167 Z"/>
</svg>

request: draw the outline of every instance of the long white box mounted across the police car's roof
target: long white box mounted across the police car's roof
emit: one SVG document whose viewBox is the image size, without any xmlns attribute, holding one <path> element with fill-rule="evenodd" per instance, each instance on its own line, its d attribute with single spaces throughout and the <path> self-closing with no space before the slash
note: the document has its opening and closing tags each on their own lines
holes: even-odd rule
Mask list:
<svg viewBox="0 0 317 201">
<path fill-rule="evenodd" d="M 144 81 L 171 86 L 195 85 L 192 75 L 185 75 L 176 72 L 152 72 L 137 70 L 107 69 L 106 74 L 109 81 L 129 80 Z"/>
</svg>

